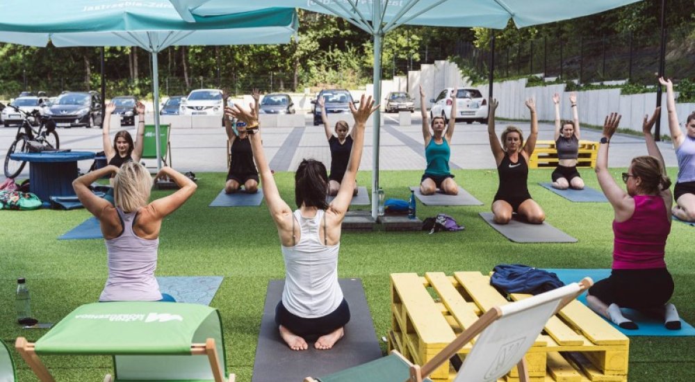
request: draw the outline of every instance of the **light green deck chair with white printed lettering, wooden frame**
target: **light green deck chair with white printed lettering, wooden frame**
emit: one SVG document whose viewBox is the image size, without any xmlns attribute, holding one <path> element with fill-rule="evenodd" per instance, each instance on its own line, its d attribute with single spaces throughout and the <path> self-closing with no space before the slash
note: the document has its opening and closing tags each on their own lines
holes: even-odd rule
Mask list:
<svg viewBox="0 0 695 382">
<path fill-rule="evenodd" d="M 42 382 L 54 381 L 39 356 L 113 356 L 117 381 L 234 382 L 227 375 L 217 309 L 198 304 L 122 301 L 80 306 L 35 343 L 15 347 Z"/>
</svg>

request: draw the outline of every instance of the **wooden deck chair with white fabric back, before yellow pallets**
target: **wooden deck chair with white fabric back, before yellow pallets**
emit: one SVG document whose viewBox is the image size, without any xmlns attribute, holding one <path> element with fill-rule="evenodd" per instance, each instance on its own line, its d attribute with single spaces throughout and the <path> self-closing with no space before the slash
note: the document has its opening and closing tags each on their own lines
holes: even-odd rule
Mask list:
<svg viewBox="0 0 695 382">
<path fill-rule="evenodd" d="M 319 379 L 307 377 L 304 382 L 423 382 L 437 367 L 448 362 L 464 345 L 480 335 L 466 354 L 454 382 L 497 381 L 515 365 L 519 380 L 529 381 L 523 359 L 543 330 L 548 319 L 587 290 L 593 281 L 588 277 L 579 283 L 488 310 L 475 323 L 457 336 L 422 367 L 392 351 L 389 356 L 345 369 Z"/>
</svg>

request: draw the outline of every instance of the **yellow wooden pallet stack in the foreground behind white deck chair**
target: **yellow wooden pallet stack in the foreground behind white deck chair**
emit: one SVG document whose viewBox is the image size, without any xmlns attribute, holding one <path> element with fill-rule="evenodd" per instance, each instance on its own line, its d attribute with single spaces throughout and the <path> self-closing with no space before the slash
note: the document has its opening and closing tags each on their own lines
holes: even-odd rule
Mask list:
<svg viewBox="0 0 695 382">
<path fill-rule="evenodd" d="M 512 294 L 523 299 L 525 294 Z M 507 303 L 480 272 L 446 276 L 428 272 L 391 274 L 391 332 L 389 351 L 423 365 L 456 335 L 491 309 Z M 473 341 L 475 342 L 475 340 Z M 472 343 L 459 351 L 461 359 Z M 627 381 L 628 338 L 579 301 L 572 301 L 551 317 L 525 358 L 532 381 Z M 445 363 L 430 376 L 452 381 L 456 372 Z M 516 367 L 502 381 L 518 381 Z"/>
</svg>

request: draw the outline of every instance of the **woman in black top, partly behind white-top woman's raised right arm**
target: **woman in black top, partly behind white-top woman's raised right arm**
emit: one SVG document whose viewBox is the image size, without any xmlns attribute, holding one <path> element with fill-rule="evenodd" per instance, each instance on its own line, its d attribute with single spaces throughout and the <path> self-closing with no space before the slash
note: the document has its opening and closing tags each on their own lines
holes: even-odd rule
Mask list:
<svg viewBox="0 0 695 382">
<path fill-rule="evenodd" d="M 328 194 L 332 197 L 338 194 L 347 169 L 347 161 L 350 160 L 350 151 L 352 151 L 352 134 L 348 133 L 350 126 L 347 122 L 340 120 L 336 122 L 336 135 L 331 131 L 328 125 L 328 117 L 326 116 L 326 100 L 323 97 L 318 97 L 318 106 L 321 108 L 321 119 L 323 128 L 326 132 L 328 145 L 331 148 L 331 174 L 328 176 Z M 353 195 L 357 195 L 357 182 L 354 183 Z"/>
</svg>

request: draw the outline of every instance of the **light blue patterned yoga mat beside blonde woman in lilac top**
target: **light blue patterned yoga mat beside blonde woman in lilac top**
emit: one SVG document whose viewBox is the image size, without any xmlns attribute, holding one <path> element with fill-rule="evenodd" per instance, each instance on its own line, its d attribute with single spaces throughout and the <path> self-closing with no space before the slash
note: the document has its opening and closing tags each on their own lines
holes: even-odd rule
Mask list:
<svg viewBox="0 0 695 382">
<path fill-rule="evenodd" d="M 210 305 L 222 284 L 222 276 L 157 276 L 159 291 L 177 302 Z"/>
</svg>

